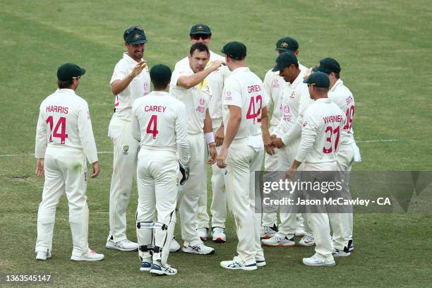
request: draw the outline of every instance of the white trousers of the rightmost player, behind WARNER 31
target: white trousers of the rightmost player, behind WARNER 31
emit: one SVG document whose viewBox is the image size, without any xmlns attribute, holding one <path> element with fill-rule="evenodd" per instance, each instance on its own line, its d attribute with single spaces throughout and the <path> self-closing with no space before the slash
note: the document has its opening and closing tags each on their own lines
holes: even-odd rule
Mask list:
<svg viewBox="0 0 432 288">
<path fill-rule="evenodd" d="M 354 151 L 351 144 L 340 144 L 337 148 L 337 171 L 350 172 L 354 162 Z M 349 174 L 344 174 L 349 175 Z M 349 181 L 345 179 L 344 187 L 349 193 Z M 329 213 L 330 226 L 332 227 L 333 246 L 342 251 L 352 240 L 353 215 L 352 213 Z"/>
</svg>

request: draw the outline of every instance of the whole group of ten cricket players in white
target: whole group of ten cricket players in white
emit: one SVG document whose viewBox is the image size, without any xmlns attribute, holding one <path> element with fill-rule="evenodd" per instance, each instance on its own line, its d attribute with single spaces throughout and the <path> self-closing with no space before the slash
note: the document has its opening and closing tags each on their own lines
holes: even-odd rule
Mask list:
<svg viewBox="0 0 432 288">
<path fill-rule="evenodd" d="M 144 60 L 145 32 L 124 32 L 126 52 L 110 80 L 114 114 L 108 136 L 114 145 L 106 248 L 137 251 L 140 270 L 175 275 L 169 252 L 214 254 L 205 245 L 227 241 L 227 206 L 239 240 L 237 255 L 220 263 L 232 270 L 266 265 L 262 246 L 316 246 L 305 265 L 335 265 L 349 256 L 352 213 L 256 212 L 255 172 L 349 172 L 361 160 L 354 141 L 354 96 L 331 58 L 315 68 L 299 63 L 291 37 L 276 43 L 276 64 L 264 82 L 246 66 L 246 46 L 229 42 L 210 51 L 208 25 L 193 25 L 191 48 L 174 71 Z M 65 192 L 73 238 L 71 260 L 102 260 L 88 246 L 87 163 L 100 173 L 88 104 L 76 95 L 85 68 L 63 64 L 58 90 L 40 105 L 36 174 L 45 176 L 37 215 L 37 260 L 52 257 L 56 205 Z M 152 90 L 150 90 L 152 85 Z M 270 116 L 269 111 L 273 112 Z M 270 118 L 270 119 L 269 119 Z M 207 210 L 207 167 L 212 203 Z M 138 186 L 136 236 L 126 236 L 133 178 Z M 180 245 L 174 238 L 180 216 Z M 331 229 L 330 229 L 331 227 Z M 210 236 L 211 232 L 211 236 Z M 294 236 L 300 240 L 295 242 Z"/>
</svg>

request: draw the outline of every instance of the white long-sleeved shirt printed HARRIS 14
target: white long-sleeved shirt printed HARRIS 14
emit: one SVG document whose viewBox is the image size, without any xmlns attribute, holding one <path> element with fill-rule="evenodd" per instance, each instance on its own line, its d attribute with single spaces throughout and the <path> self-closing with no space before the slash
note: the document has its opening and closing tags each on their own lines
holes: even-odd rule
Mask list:
<svg viewBox="0 0 432 288">
<path fill-rule="evenodd" d="M 36 158 L 44 158 L 47 145 L 83 149 L 88 162 L 97 161 L 88 104 L 74 90 L 56 90 L 40 104 Z"/>
</svg>

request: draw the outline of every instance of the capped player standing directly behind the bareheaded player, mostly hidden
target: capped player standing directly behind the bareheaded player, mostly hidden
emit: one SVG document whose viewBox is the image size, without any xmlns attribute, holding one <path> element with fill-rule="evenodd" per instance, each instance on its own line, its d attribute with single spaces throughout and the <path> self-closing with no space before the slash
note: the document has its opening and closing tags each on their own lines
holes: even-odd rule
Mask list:
<svg viewBox="0 0 432 288">
<path fill-rule="evenodd" d="M 212 40 L 212 30 L 205 24 L 196 24 L 191 28 L 189 33 L 191 37 L 191 44 L 203 43 L 209 47 L 210 60 L 208 61 L 207 67 L 211 66 L 216 60 L 224 60 L 224 57 L 212 52 L 210 50 L 210 43 Z M 176 68 L 180 66 L 188 66 L 189 61 L 186 56 L 176 63 Z M 224 140 L 224 127 L 222 123 L 222 89 L 224 88 L 224 80 L 229 75 L 229 69 L 227 66 L 221 66 L 207 78 L 203 89 L 210 88 L 209 94 L 211 94 L 208 102 L 208 112 L 212 119 L 212 130 L 215 135 L 216 150 L 219 152 L 220 145 Z M 225 235 L 225 220 L 227 218 L 227 195 L 224 191 L 224 174 L 221 169 L 217 167 L 217 164 L 212 164 L 212 204 L 210 206 L 210 212 L 212 215 L 212 241 L 225 242 L 227 236 Z M 207 187 L 207 184 L 206 184 Z M 202 241 L 208 239 L 209 230 L 209 219 L 207 212 L 207 188 L 205 193 L 200 195 L 198 200 L 198 214 L 196 216 L 196 229 L 198 236 Z"/>
</svg>

